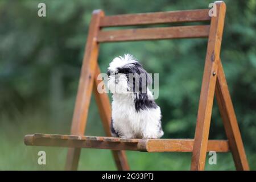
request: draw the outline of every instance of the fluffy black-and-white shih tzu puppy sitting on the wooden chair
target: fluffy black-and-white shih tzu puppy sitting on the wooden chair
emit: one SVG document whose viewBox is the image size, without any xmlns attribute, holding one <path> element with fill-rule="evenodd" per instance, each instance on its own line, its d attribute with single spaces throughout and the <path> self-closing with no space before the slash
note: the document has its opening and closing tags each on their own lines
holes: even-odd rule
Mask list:
<svg viewBox="0 0 256 182">
<path fill-rule="evenodd" d="M 161 111 L 148 85 L 151 76 L 133 56 L 115 57 L 108 68 L 108 89 L 112 93 L 113 137 L 160 138 Z"/>
</svg>

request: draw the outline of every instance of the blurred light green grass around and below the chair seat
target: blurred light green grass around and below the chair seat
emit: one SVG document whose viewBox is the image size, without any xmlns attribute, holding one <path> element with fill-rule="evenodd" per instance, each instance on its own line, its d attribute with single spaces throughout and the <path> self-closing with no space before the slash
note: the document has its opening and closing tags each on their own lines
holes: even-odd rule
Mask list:
<svg viewBox="0 0 256 182">
<path fill-rule="evenodd" d="M 67 148 L 25 146 L 23 137 L 32 133 L 69 133 L 71 118 L 61 122 L 47 122 L 49 119 L 42 111 L 24 112 L 15 117 L 1 115 L 0 127 L 0 169 L 1 170 L 62 170 L 64 169 Z M 97 114 L 90 113 L 97 117 Z M 101 123 L 89 118 L 87 133 L 103 135 Z M 97 119 L 96 119 L 97 120 Z M 68 122 L 67 122 L 68 121 Z M 96 130 L 98 132 L 96 132 Z M 46 165 L 38 164 L 38 152 L 46 151 Z M 189 153 L 146 153 L 127 151 L 130 168 L 133 170 L 189 170 Z M 234 170 L 232 155 L 217 154 L 217 164 L 207 164 L 206 170 Z M 247 151 L 251 169 L 256 169 L 256 154 Z M 116 170 L 110 150 L 82 149 L 79 163 L 80 170 Z"/>
</svg>

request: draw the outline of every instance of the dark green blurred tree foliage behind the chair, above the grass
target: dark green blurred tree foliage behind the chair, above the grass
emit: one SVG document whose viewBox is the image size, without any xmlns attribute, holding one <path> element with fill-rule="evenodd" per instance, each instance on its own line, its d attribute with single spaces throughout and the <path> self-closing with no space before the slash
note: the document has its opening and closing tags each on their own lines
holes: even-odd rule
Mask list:
<svg viewBox="0 0 256 182">
<path fill-rule="evenodd" d="M 38 3 L 46 3 L 46 18 Z M 0 114 L 26 107 L 53 113 L 72 110 L 90 16 L 205 9 L 212 1 L 0 1 Z M 256 149 L 255 0 L 227 5 L 221 58 L 246 146 Z M 106 43 L 99 63 L 106 71 L 113 57 L 131 53 L 150 73 L 159 73 L 165 137 L 192 138 L 195 132 L 207 40 Z M 216 105 L 216 102 L 214 102 Z M 95 108 L 94 108 L 95 109 Z M 210 138 L 225 138 L 214 106 Z"/>
</svg>

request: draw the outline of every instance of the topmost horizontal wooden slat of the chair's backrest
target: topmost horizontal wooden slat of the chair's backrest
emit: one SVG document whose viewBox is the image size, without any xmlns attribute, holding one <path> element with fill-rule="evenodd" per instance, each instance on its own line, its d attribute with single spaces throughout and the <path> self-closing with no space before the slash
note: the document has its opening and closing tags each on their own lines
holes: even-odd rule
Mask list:
<svg viewBox="0 0 256 182">
<path fill-rule="evenodd" d="M 101 18 L 100 26 L 117 27 L 174 22 L 201 22 L 210 20 L 208 11 L 209 9 L 202 9 L 104 16 Z"/>
</svg>

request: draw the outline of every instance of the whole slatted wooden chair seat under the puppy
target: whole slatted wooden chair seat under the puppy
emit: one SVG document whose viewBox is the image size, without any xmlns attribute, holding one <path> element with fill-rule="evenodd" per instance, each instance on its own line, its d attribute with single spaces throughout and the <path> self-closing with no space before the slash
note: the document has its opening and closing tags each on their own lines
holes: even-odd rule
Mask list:
<svg viewBox="0 0 256 182">
<path fill-rule="evenodd" d="M 192 152 L 193 139 L 121 139 L 115 137 L 89 137 L 76 135 L 26 135 L 28 146 L 55 146 L 101 148 L 144 152 Z M 208 151 L 228 152 L 228 140 L 209 140 Z"/>
</svg>

